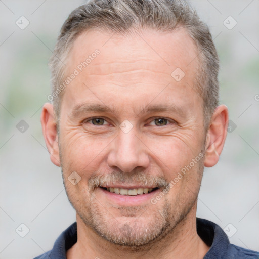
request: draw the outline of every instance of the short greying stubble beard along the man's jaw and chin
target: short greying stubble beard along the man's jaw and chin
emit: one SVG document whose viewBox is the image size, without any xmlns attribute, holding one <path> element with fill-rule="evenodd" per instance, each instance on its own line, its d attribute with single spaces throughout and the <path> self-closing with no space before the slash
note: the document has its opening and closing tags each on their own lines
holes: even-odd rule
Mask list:
<svg viewBox="0 0 259 259">
<path fill-rule="evenodd" d="M 197 166 L 198 171 L 196 172 L 199 175 L 199 186 L 195 190 L 195 193 L 192 192 L 191 198 L 186 199 L 185 195 L 180 193 L 175 198 L 175 203 L 170 204 L 165 195 L 162 198 L 164 202 L 161 209 L 156 208 L 151 203 L 148 207 L 117 207 L 122 215 L 130 217 L 130 221 L 128 222 L 118 222 L 108 211 L 106 211 L 105 215 L 105 208 L 100 205 L 100 202 L 96 201 L 94 194 L 90 194 L 87 190 L 85 190 L 85 193 L 88 193 L 88 195 L 85 194 L 87 196 L 84 196 L 80 204 L 78 203 L 78 199 L 74 197 L 73 192 L 68 187 L 70 183 L 64 180 L 61 153 L 60 161 L 63 183 L 69 202 L 81 218 L 85 227 L 87 229 L 90 228 L 99 237 L 104 238 L 109 243 L 117 245 L 118 248 L 134 251 L 149 250 L 154 243 L 157 244 L 167 236 L 170 236 L 170 241 L 173 241 L 175 238 L 177 239 L 175 230 L 177 226 L 179 227 L 185 224 L 188 214 L 196 205 L 203 174 L 203 161 L 201 159 Z M 147 212 L 150 214 L 150 209 L 152 209 L 153 215 L 151 220 L 147 222 L 144 216 Z M 133 220 L 134 217 L 136 220 Z"/>
</svg>

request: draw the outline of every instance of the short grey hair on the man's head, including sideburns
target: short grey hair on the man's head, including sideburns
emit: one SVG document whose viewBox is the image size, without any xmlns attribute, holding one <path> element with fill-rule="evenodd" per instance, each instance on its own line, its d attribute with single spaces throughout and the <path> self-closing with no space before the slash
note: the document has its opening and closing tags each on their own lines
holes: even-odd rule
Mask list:
<svg viewBox="0 0 259 259">
<path fill-rule="evenodd" d="M 57 123 L 64 91 L 57 90 L 64 80 L 65 60 L 75 39 L 90 29 L 126 34 L 133 29 L 171 32 L 183 27 L 198 50 L 199 72 L 195 90 L 203 99 L 204 127 L 219 105 L 219 57 L 208 26 L 185 0 L 90 0 L 72 11 L 64 22 L 54 55 L 50 59 L 53 105 Z M 62 60 L 62 61 L 61 61 Z M 54 95 L 53 95 L 54 96 Z"/>
</svg>

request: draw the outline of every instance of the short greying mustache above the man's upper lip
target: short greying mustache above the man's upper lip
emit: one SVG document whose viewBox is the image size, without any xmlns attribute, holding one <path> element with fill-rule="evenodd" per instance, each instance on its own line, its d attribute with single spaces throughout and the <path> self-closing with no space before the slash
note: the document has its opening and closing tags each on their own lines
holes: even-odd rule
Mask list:
<svg viewBox="0 0 259 259">
<path fill-rule="evenodd" d="M 112 186 L 115 184 L 135 185 L 142 184 L 145 186 L 156 186 L 158 188 L 166 188 L 169 182 L 162 176 L 151 176 L 147 173 L 137 171 L 134 173 L 125 173 L 112 171 L 108 174 L 94 173 L 89 181 L 89 191 L 93 191 L 96 187 Z"/>
</svg>

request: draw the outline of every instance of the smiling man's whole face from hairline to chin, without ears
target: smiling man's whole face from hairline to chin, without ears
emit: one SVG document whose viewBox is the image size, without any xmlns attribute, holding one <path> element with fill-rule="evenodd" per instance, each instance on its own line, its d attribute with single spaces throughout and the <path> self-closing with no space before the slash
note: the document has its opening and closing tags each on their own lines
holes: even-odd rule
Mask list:
<svg viewBox="0 0 259 259">
<path fill-rule="evenodd" d="M 81 34 L 66 61 L 66 75 L 79 74 L 62 99 L 60 160 L 85 227 L 141 246 L 173 231 L 196 204 L 205 142 L 197 50 L 183 29 L 112 35 Z"/>
</svg>

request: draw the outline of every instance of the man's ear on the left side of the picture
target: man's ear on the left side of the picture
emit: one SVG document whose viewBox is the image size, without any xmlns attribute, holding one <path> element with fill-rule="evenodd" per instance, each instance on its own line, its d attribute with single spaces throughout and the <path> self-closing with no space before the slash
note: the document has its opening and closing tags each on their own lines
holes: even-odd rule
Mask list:
<svg viewBox="0 0 259 259">
<path fill-rule="evenodd" d="M 50 153 L 51 161 L 55 165 L 60 166 L 57 124 L 52 104 L 44 104 L 40 122 L 45 143 Z"/>
</svg>

